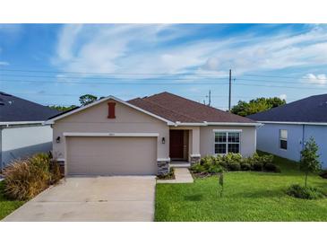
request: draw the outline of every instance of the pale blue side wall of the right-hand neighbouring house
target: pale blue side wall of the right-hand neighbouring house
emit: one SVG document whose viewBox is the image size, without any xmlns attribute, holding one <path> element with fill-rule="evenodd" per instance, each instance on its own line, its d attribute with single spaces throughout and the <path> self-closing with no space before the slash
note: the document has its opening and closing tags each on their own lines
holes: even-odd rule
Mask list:
<svg viewBox="0 0 327 246">
<path fill-rule="evenodd" d="M 280 129 L 288 130 L 288 149 L 280 149 Z M 305 133 L 305 135 L 303 135 Z M 312 125 L 291 125 L 291 124 L 264 124 L 257 130 L 257 148 L 259 150 L 280 155 L 293 161 L 299 161 L 303 141 L 307 141 L 310 136 L 314 137 L 319 146 L 320 160 L 323 168 L 327 168 L 327 126 Z"/>
</svg>

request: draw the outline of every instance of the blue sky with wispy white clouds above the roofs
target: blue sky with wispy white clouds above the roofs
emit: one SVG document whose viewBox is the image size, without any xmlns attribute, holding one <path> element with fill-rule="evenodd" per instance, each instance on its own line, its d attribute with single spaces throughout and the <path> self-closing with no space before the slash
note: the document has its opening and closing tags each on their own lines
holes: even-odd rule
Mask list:
<svg viewBox="0 0 327 246">
<path fill-rule="evenodd" d="M 172 92 L 228 109 L 327 92 L 324 24 L 0 24 L 0 91 L 44 105 Z"/>
</svg>

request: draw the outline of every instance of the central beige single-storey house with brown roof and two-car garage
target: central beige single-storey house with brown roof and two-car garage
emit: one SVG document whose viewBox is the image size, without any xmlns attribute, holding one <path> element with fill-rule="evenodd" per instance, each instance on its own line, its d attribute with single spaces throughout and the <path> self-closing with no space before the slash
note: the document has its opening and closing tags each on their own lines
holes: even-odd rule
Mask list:
<svg viewBox="0 0 327 246">
<path fill-rule="evenodd" d="M 246 119 L 162 92 L 122 101 L 109 96 L 49 119 L 53 154 L 65 174 L 167 173 L 174 161 L 256 150 L 256 127 Z"/>
</svg>

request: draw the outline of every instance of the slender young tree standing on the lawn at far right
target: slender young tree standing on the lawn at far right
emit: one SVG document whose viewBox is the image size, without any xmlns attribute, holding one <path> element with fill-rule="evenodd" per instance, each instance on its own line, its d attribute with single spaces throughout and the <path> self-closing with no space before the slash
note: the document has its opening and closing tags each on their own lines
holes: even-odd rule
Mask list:
<svg viewBox="0 0 327 246">
<path fill-rule="evenodd" d="M 319 162 L 318 145 L 315 144 L 314 138 L 310 137 L 305 143 L 305 148 L 301 151 L 300 170 L 305 172 L 305 187 L 309 172 L 317 172 L 322 169 Z"/>
</svg>

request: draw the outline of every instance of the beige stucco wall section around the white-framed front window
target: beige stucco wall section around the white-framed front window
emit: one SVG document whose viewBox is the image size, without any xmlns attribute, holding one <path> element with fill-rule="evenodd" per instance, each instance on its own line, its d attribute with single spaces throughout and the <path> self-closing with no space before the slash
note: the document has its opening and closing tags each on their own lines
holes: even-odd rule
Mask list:
<svg viewBox="0 0 327 246">
<path fill-rule="evenodd" d="M 241 129 L 241 154 L 249 156 L 256 150 L 255 127 L 226 127 L 210 126 L 200 127 L 200 154 L 201 156 L 214 154 L 214 129 Z"/>
</svg>

